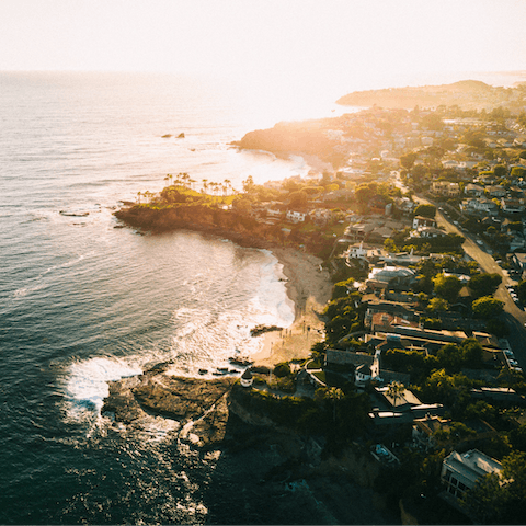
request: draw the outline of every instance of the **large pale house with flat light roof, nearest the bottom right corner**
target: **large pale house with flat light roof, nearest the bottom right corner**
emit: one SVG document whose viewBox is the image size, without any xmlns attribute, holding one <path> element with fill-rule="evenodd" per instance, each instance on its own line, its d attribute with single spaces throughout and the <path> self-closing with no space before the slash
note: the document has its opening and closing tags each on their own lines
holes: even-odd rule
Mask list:
<svg viewBox="0 0 526 526">
<path fill-rule="evenodd" d="M 489 473 L 500 474 L 501 471 L 502 464 L 499 460 L 478 449 L 461 455 L 453 451 L 442 464 L 441 480 L 446 491 L 458 499 L 473 488 L 482 477 Z"/>
</svg>

